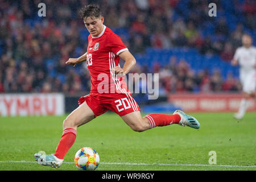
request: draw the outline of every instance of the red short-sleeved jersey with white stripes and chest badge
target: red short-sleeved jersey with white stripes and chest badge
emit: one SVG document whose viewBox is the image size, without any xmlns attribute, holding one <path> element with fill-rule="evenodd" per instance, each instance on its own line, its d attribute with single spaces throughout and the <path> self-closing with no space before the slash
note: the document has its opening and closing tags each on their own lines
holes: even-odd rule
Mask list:
<svg viewBox="0 0 256 182">
<path fill-rule="evenodd" d="M 88 36 L 87 67 L 91 76 L 91 94 L 129 92 L 124 77 L 114 75 L 119 53 L 128 50 L 118 35 L 104 25 L 97 37 Z"/>
</svg>

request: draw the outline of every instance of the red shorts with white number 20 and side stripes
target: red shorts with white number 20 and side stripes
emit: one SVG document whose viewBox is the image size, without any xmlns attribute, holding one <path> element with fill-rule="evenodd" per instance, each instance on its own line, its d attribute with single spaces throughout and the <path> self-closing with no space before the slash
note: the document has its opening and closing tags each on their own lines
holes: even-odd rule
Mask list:
<svg viewBox="0 0 256 182">
<path fill-rule="evenodd" d="M 95 117 L 111 110 L 120 117 L 140 111 L 137 102 L 131 96 L 130 92 L 112 93 L 112 94 L 89 94 L 79 98 L 79 105 L 84 101 L 92 109 Z"/>
</svg>

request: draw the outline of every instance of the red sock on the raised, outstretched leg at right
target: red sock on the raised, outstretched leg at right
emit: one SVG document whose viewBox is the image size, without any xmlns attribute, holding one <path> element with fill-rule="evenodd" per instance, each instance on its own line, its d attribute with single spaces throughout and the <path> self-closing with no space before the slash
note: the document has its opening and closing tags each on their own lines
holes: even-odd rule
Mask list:
<svg viewBox="0 0 256 182">
<path fill-rule="evenodd" d="M 148 114 L 145 116 L 150 123 L 150 128 L 156 126 L 166 126 L 171 124 L 179 124 L 180 122 L 180 115 L 179 114 Z"/>
</svg>

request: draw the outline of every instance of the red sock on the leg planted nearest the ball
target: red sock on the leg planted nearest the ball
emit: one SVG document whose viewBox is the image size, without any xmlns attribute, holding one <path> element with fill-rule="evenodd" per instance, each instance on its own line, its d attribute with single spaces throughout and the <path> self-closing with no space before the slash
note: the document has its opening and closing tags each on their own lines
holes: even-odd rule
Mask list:
<svg viewBox="0 0 256 182">
<path fill-rule="evenodd" d="M 75 129 L 65 129 L 61 136 L 60 142 L 56 148 L 55 156 L 59 159 L 63 159 L 65 154 L 67 154 L 69 148 L 72 147 L 76 140 L 76 130 Z"/>
</svg>

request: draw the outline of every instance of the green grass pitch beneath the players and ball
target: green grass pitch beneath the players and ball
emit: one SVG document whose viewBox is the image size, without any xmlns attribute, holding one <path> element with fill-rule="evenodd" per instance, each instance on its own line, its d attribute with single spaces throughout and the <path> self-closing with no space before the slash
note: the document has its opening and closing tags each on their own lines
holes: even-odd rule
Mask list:
<svg viewBox="0 0 256 182">
<path fill-rule="evenodd" d="M 256 113 L 240 122 L 233 113 L 190 114 L 199 130 L 170 125 L 142 133 L 117 114 L 101 115 L 77 129 L 59 169 L 40 166 L 34 154 L 55 152 L 66 115 L 0 117 L 0 170 L 77 170 L 73 158 L 81 147 L 98 152 L 97 170 L 256 170 Z M 209 151 L 216 151 L 217 164 L 209 164 Z"/>
</svg>

